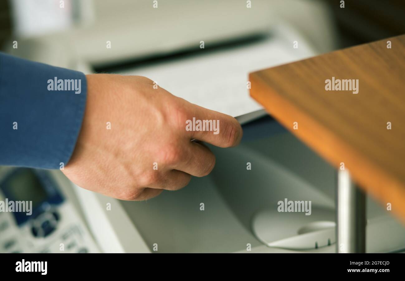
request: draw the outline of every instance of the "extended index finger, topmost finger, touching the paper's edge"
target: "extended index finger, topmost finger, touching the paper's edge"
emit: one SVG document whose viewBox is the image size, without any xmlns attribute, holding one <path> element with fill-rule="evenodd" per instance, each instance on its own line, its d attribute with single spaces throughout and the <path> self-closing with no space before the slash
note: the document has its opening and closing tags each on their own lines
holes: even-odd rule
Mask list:
<svg viewBox="0 0 405 281">
<path fill-rule="evenodd" d="M 241 142 L 242 127 L 232 116 L 195 104 L 190 106 L 189 115 L 191 119 L 186 121 L 186 131 L 190 139 L 195 138 L 217 147 L 233 147 Z"/>
</svg>

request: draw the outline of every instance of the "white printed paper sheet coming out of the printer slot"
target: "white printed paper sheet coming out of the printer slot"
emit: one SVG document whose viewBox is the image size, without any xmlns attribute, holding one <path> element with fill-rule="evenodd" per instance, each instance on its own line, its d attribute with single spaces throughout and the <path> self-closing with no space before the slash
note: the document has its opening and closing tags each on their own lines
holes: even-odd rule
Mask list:
<svg viewBox="0 0 405 281">
<path fill-rule="evenodd" d="M 235 117 L 262 109 L 249 96 L 249 72 L 314 55 L 303 41 L 294 49 L 292 40 L 274 35 L 242 47 L 200 52 L 119 74 L 146 76 L 175 96 Z"/>
</svg>

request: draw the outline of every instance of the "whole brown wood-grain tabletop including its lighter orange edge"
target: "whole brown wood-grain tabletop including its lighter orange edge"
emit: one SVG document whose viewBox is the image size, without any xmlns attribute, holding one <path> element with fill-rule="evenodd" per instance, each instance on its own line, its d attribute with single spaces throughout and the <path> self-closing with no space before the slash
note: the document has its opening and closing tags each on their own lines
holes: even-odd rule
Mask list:
<svg viewBox="0 0 405 281">
<path fill-rule="evenodd" d="M 358 94 L 326 91 L 332 77 L 358 79 Z M 250 95 L 273 117 L 336 168 L 343 162 L 405 222 L 405 35 L 260 70 L 249 79 Z"/>
</svg>

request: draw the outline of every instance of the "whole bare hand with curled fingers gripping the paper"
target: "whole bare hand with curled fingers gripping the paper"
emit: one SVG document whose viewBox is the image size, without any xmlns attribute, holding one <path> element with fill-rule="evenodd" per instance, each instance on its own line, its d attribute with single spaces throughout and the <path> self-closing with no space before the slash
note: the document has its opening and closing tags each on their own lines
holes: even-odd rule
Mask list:
<svg viewBox="0 0 405 281">
<path fill-rule="evenodd" d="M 163 189 L 177 190 L 190 182 L 191 175 L 208 175 L 215 165 L 213 153 L 190 140 L 232 147 L 242 138 L 233 117 L 155 89 L 146 77 L 86 77 L 83 124 L 63 170 L 85 189 L 123 200 L 145 200 Z M 193 117 L 219 120 L 219 126 L 211 131 L 186 130 Z"/>
</svg>

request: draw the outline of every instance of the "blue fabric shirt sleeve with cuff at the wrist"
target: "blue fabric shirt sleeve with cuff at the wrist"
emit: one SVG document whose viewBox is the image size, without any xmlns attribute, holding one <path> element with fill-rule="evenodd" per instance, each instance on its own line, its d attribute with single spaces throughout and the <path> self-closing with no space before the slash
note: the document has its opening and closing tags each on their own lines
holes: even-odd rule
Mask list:
<svg viewBox="0 0 405 281">
<path fill-rule="evenodd" d="M 0 53 L 0 165 L 66 165 L 79 135 L 86 95 L 81 72 Z"/>
</svg>

